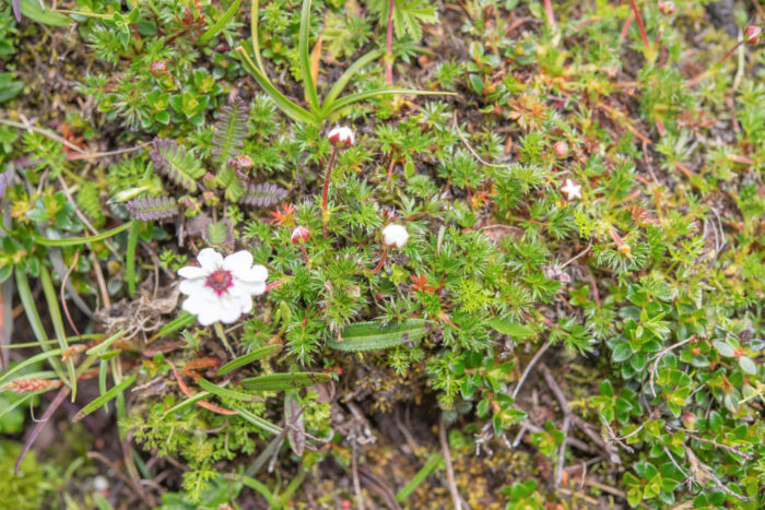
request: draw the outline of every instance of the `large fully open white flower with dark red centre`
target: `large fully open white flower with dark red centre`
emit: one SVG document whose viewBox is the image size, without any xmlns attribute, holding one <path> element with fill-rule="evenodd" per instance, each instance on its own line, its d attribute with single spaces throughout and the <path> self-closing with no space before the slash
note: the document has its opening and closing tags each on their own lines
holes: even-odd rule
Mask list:
<svg viewBox="0 0 765 510">
<path fill-rule="evenodd" d="M 187 265 L 178 270 L 185 278 L 179 289 L 189 297 L 181 308 L 197 316 L 199 323 L 229 324 L 252 309 L 252 297 L 266 292 L 268 270 L 252 265 L 249 251 L 237 251 L 225 259 L 212 248 L 197 256 L 199 268 Z"/>
</svg>

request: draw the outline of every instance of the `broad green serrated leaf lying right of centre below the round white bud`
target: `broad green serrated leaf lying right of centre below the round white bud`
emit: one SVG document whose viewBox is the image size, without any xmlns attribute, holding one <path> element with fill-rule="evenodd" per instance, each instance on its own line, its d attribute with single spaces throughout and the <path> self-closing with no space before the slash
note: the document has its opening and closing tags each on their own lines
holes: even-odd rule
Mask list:
<svg viewBox="0 0 765 510">
<path fill-rule="evenodd" d="M 331 340 L 327 344 L 338 351 L 375 351 L 415 342 L 427 334 L 428 322 L 409 319 L 400 324 L 380 327 L 377 321 L 356 322 L 340 333 L 342 341 Z"/>
</svg>

